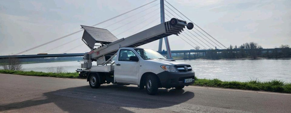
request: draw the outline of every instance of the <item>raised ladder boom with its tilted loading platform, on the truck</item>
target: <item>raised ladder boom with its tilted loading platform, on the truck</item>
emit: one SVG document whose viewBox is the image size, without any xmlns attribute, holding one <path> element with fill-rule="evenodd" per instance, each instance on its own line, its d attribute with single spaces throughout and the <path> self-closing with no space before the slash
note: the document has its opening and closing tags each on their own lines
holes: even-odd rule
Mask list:
<svg viewBox="0 0 291 113">
<path fill-rule="evenodd" d="M 187 24 L 186 21 L 172 18 L 170 21 L 166 21 L 164 23 L 158 24 L 154 27 L 151 27 L 149 29 L 141 31 L 137 34 L 134 34 L 132 36 L 122 38 L 119 40 L 117 40 L 117 38 L 113 34 L 111 34 L 108 30 L 106 31 L 105 29 L 100 29 L 100 28 L 95 28 L 95 27 L 91 27 L 89 29 L 89 28 L 85 28 L 88 26 L 82 26 L 82 28 L 84 28 L 84 30 L 85 30 L 83 37 L 82 37 L 82 40 L 84 39 L 83 41 L 87 46 L 90 45 L 89 43 L 91 43 L 91 47 L 90 46 L 88 46 L 88 47 L 92 51 L 87 53 L 87 54 L 89 54 L 89 58 L 87 58 L 87 59 L 93 60 L 93 59 L 96 59 L 96 58 L 99 58 L 99 57 L 105 56 L 105 55 L 112 56 L 121 47 L 138 47 L 138 46 L 141 46 L 143 44 L 147 44 L 149 42 L 159 40 L 161 38 L 167 37 L 167 36 L 172 35 L 172 34 L 178 35 L 182 31 L 184 31 L 183 28 L 185 28 L 185 26 L 187 26 L 188 29 L 193 28 L 192 23 Z M 91 33 L 90 33 L 90 30 L 91 30 Z M 94 31 L 94 32 L 92 32 L 92 31 Z M 88 34 L 89 34 L 89 36 L 91 36 L 93 38 L 93 40 L 92 39 L 90 40 L 88 38 Z M 102 35 L 98 35 L 98 34 L 102 34 Z M 98 37 L 96 38 L 96 36 L 94 36 L 94 35 L 102 37 L 102 39 L 98 40 Z M 108 38 L 104 39 L 106 37 L 108 37 Z M 95 40 L 95 42 L 94 42 L 94 40 Z M 106 41 L 104 41 L 104 40 L 106 40 Z M 113 41 L 113 42 L 110 42 L 110 41 Z M 100 43 L 100 44 L 104 44 L 104 45 L 102 47 L 97 48 L 97 49 L 92 49 L 93 48 L 92 42 L 93 42 L 93 47 L 94 47 L 95 43 Z"/>
</svg>

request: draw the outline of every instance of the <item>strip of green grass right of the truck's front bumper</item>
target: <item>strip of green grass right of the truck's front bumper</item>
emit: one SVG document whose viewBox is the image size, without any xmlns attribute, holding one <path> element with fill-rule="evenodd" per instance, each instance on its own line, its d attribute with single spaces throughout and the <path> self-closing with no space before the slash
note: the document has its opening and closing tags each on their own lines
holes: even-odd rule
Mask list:
<svg viewBox="0 0 291 113">
<path fill-rule="evenodd" d="M 244 89 L 255 91 L 284 92 L 291 93 L 291 83 L 285 83 L 281 80 L 271 80 L 260 82 L 258 80 L 250 80 L 248 82 L 238 81 L 221 81 L 219 79 L 197 79 L 195 78 L 194 86 L 207 86 L 231 89 Z"/>
</svg>

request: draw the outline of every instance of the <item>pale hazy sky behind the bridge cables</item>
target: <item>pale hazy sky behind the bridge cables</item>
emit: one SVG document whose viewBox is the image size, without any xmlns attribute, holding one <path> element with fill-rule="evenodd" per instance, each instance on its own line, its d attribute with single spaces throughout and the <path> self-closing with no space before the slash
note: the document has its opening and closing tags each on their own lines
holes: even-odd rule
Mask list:
<svg viewBox="0 0 291 113">
<path fill-rule="evenodd" d="M 75 31 L 79 31 L 81 28 L 80 25 L 94 25 L 151 1 L 152 0 L 0 0 L 0 55 L 19 53 Z M 256 42 L 263 48 L 279 47 L 281 44 L 291 45 L 290 0 L 167 0 L 167 2 L 176 7 L 192 22 L 197 24 L 226 47 L 229 47 L 229 45 L 240 46 L 246 42 Z M 165 5 L 169 6 L 166 2 Z M 169 7 L 171 8 L 171 6 Z M 180 18 L 173 13 L 170 8 L 165 6 L 165 9 L 170 11 L 174 17 L 186 19 L 175 9 L 171 8 L 182 16 L 182 18 Z M 139 13 L 142 10 L 145 11 Z M 95 27 L 108 29 L 118 39 L 126 38 L 159 24 L 159 12 L 158 0 Z M 165 13 L 171 16 L 168 17 L 166 15 L 166 21 L 169 21 L 170 18 L 174 18 L 169 12 L 165 11 Z M 186 19 L 187 22 L 190 22 L 190 20 Z M 113 24 L 115 22 L 118 23 Z M 109 26 L 110 24 L 113 25 Z M 202 34 L 200 34 L 200 36 L 205 40 L 196 35 L 193 31 L 190 32 L 195 34 L 198 39 L 190 34 L 188 30 L 184 32 L 182 34 L 190 40 L 182 35 L 180 35 L 180 37 L 176 35 L 168 37 L 171 50 L 194 49 L 192 46 L 199 46 L 201 48 L 206 47 L 206 49 L 208 49 L 209 47 L 214 48 L 214 46 L 217 46 L 216 44 L 223 48 L 222 45 L 211 37 L 209 37 L 209 39 L 216 44 Z M 199 31 L 196 32 L 199 34 Z M 37 54 L 45 51 L 47 51 L 45 53 L 49 54 L 89 52 L 90 49 L 81 40 L 82 34 L 83 32 L 79 32 L 23 54 Z M 191 45 L 187 44 L 181 38 Z M 77 40 L 72 41 L 75 39 Z M 72 42 L 55 48 L 69 41 Z M 195 44 L 193 44 L 193 42 Z M 158 43 L 157 40 L 140 47 L 158 50 Z M 164 42 L 162 49 L 166 50 Z"/>
</svg>

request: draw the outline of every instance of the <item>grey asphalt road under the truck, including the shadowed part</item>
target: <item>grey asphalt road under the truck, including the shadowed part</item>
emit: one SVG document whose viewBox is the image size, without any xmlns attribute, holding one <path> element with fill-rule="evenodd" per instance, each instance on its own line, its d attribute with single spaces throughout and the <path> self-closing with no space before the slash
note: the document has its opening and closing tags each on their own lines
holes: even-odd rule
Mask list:
<svg viewBox="0 0 291 113">
<path fill-rule="evenodd" d="M 148 95 L 135 85 L 0 74 L 0 112 L 291 112 L 291 94 L 188 86 Z"/>
</svg>

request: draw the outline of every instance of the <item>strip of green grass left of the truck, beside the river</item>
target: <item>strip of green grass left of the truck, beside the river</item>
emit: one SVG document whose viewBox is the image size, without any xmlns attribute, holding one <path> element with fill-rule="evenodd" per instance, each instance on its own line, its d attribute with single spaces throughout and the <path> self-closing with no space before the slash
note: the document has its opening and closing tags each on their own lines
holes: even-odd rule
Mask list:
<svg viewBox="0 0 291 113">
<path fill-rule="evenodd" d="M 35 71 L 12 71 L 12 70 L 0 70 L 0 73 L 26 76 L 49 76 L 59 78 L 77 78 L 79 76 L 79 73 L 44 73 Z"/>
</svg>

